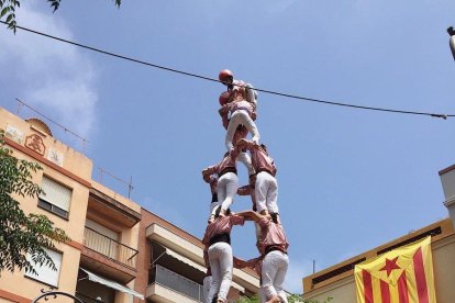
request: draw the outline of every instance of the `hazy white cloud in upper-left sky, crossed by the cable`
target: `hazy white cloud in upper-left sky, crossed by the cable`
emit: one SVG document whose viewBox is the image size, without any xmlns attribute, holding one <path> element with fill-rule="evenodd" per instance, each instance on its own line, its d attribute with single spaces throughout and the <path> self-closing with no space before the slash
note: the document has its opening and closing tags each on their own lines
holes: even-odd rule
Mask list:
<svg viewBox="0 0 455 303">
<path fill-rule="evenodd" d="M 24 2 L 18 10 L 18 24 L 74 40 L 58 13 L 51 12 L 43 1 Z M 87 137 L 95 126 L 98 101 L 93 64 L 75 46 L 21 30 L 13 35 L 2 29 L 0 41 L 0 68 L 9 70 L 0 80 L 11 83 L 14 97 Z"/>
</svg>

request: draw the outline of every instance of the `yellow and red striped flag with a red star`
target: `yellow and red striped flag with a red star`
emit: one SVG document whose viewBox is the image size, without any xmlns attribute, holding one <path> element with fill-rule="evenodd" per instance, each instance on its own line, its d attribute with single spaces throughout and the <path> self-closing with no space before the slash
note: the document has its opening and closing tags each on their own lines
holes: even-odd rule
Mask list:
<svg viewBox="0 0 455 303">
<path fill-rule="evenodd" d="M 357 303 L 436 303 L 431 237 L 355 266 Z"/>
</svg>

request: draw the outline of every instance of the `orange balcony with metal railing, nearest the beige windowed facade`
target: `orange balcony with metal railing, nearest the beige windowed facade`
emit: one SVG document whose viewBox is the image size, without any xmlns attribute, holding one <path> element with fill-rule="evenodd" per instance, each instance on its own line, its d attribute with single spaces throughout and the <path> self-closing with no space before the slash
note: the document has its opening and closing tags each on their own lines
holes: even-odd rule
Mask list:
<svg viewBox="0 0 455 303">
<path fill-rule="evenodd" d="M 127 283 L 136 276 L 137 250 L 85 227 L 80 263 L 107 278 Z"/>
</svg>

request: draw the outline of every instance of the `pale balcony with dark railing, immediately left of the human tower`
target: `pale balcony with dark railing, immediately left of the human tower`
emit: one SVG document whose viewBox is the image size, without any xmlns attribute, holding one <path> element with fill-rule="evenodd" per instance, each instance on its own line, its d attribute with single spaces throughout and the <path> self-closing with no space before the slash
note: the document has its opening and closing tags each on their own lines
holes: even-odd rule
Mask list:
<svg viewBox="0 0 455 303">
<path fill-rule="evenodd" d="M 202 302 L 202 285 L 158 265 L 149 270 L 148 284 L 153 302 Z"/>
</svg>

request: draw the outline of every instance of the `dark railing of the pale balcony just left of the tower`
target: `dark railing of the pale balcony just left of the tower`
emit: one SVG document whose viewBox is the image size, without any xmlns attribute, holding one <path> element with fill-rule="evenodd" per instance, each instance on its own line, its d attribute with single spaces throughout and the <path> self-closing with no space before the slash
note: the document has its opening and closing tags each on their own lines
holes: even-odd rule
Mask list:
<svg viewBox="0 0 455 303">
<path fill-rule="evenodd" d="M 202 285 L 174 271 L 156 265 L 149 270 L 148 277 L 148 284 L 157 283 L 189 296 L 195 301 L 202 302 Z"/>
</svg>

